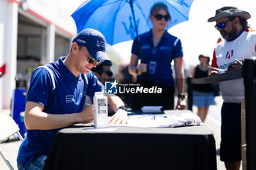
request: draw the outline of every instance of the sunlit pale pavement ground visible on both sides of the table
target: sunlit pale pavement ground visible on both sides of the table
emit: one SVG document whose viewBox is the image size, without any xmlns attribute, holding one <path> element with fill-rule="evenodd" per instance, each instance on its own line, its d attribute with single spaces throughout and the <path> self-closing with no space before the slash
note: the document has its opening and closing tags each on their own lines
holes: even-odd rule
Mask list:
<svg viewBox="0 0 256 170">
<path fill-rule="evenodd" d="M 213 131 L 214 138 L 216 140 L 216 149 L 219 150 L 220 144 L 220 109 L 222 106 L 222 98 L 218 96 L 215 98 L 217 104 L 209 107 L 208 115 L 206 117 L 205 124 L 206 126 Z M 197 112 L 196 107 L 193 107 L 193 112 Z M 13 139 L 10 142 L 0 143 L 0 149 L 4 152 L 4 155 L 12 164 L 13 168 L 17 170 L 16 158 L 18 155 L 18 148 L 20 146 L 20 141 L 14 141 Z M 4 160 L 0 158 L 0 170 L 8 170 Z M 222 161 L 219 160 L 219 155 L 217 153 L 217 170 L 225 170 L 225 165 Z"/>
</svg>

